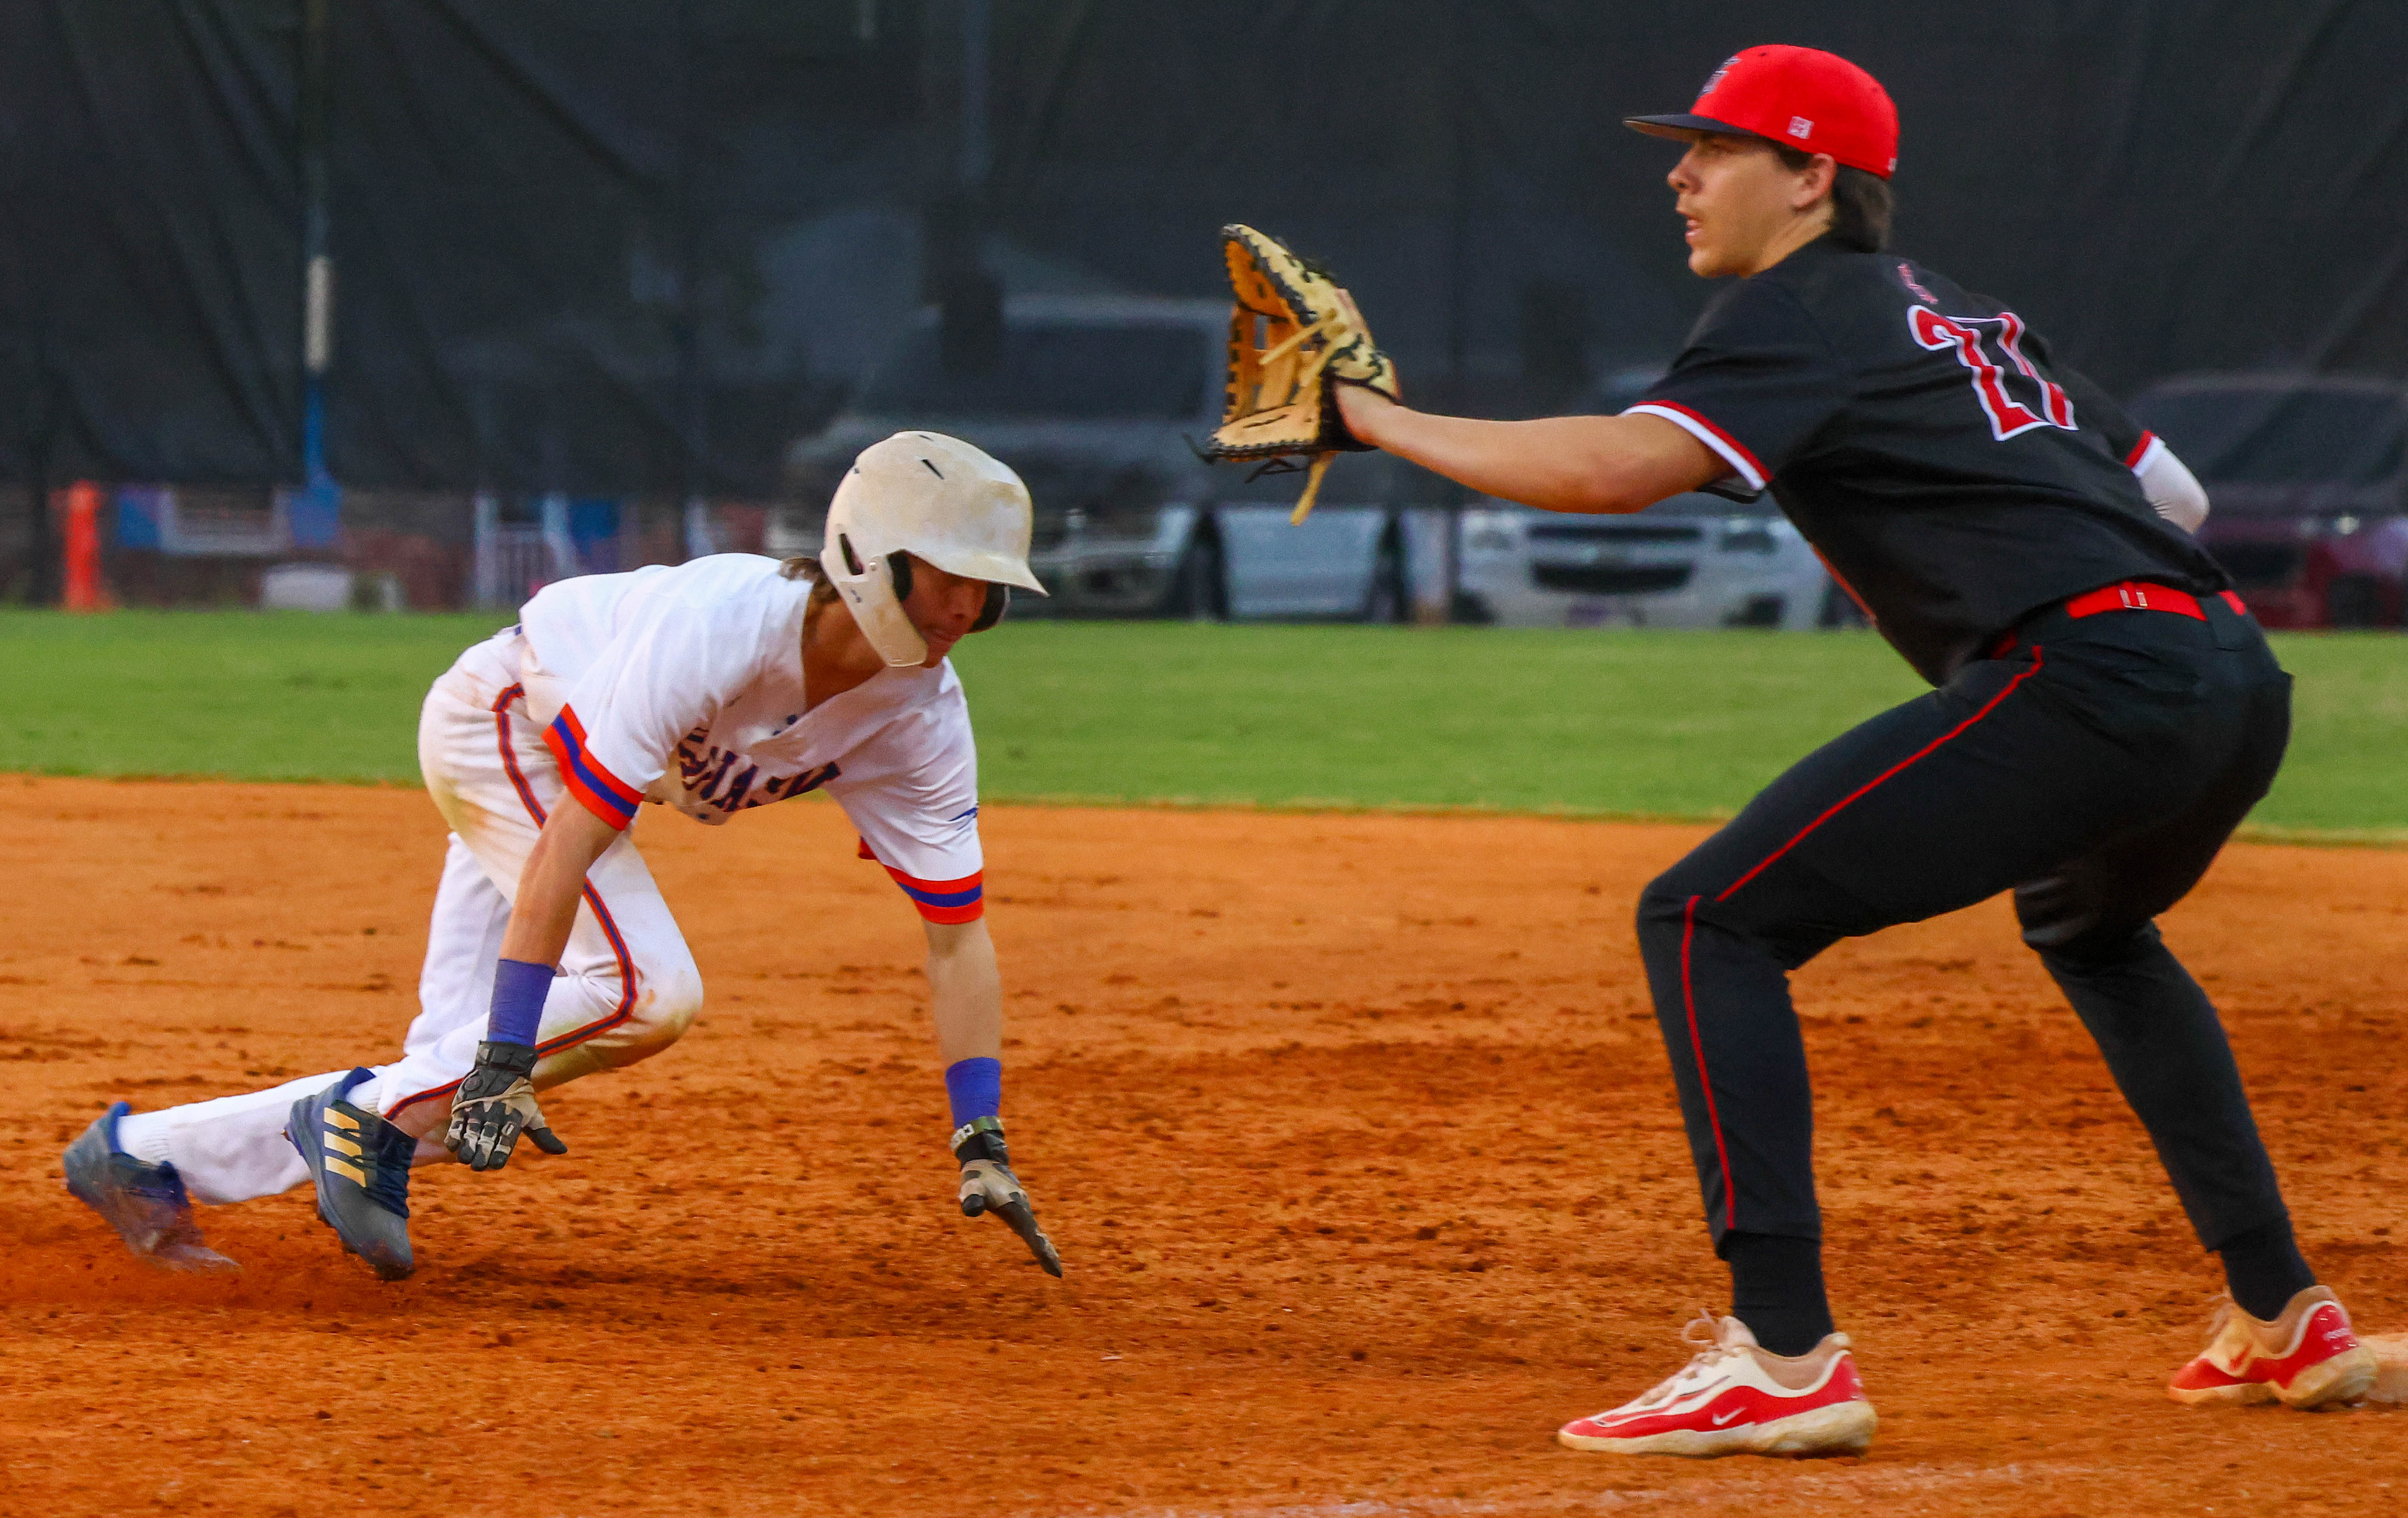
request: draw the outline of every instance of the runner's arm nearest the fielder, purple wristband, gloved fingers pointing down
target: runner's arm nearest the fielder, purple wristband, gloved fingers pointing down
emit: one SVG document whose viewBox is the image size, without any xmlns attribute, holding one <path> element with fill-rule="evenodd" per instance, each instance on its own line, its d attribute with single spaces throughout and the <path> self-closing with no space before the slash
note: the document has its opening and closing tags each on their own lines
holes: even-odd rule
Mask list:
<svg viewBox="0 0 2408 1518">
<path fill-rule="evenodd" d="M 954 1101 L 954 1159 L 961 1164 L 963 1217 L 995 1217 L 1011 1224 L 1028 1253 L 1047 1275 L 1062 1275 L 1062 1255 L 1038 1226 L 1028 1190 L 1011 1171 L 1004 1147 L 1004 1120 L 997 1116 L 1004 1092 L 1004 978 L 995 969 L 995 940 L 985 920 L 922 923 L 927 928 L 929 1012 L 937 1022 L 937 1053 L 944 1058 L 944 1087 Z"/>
</svg>

